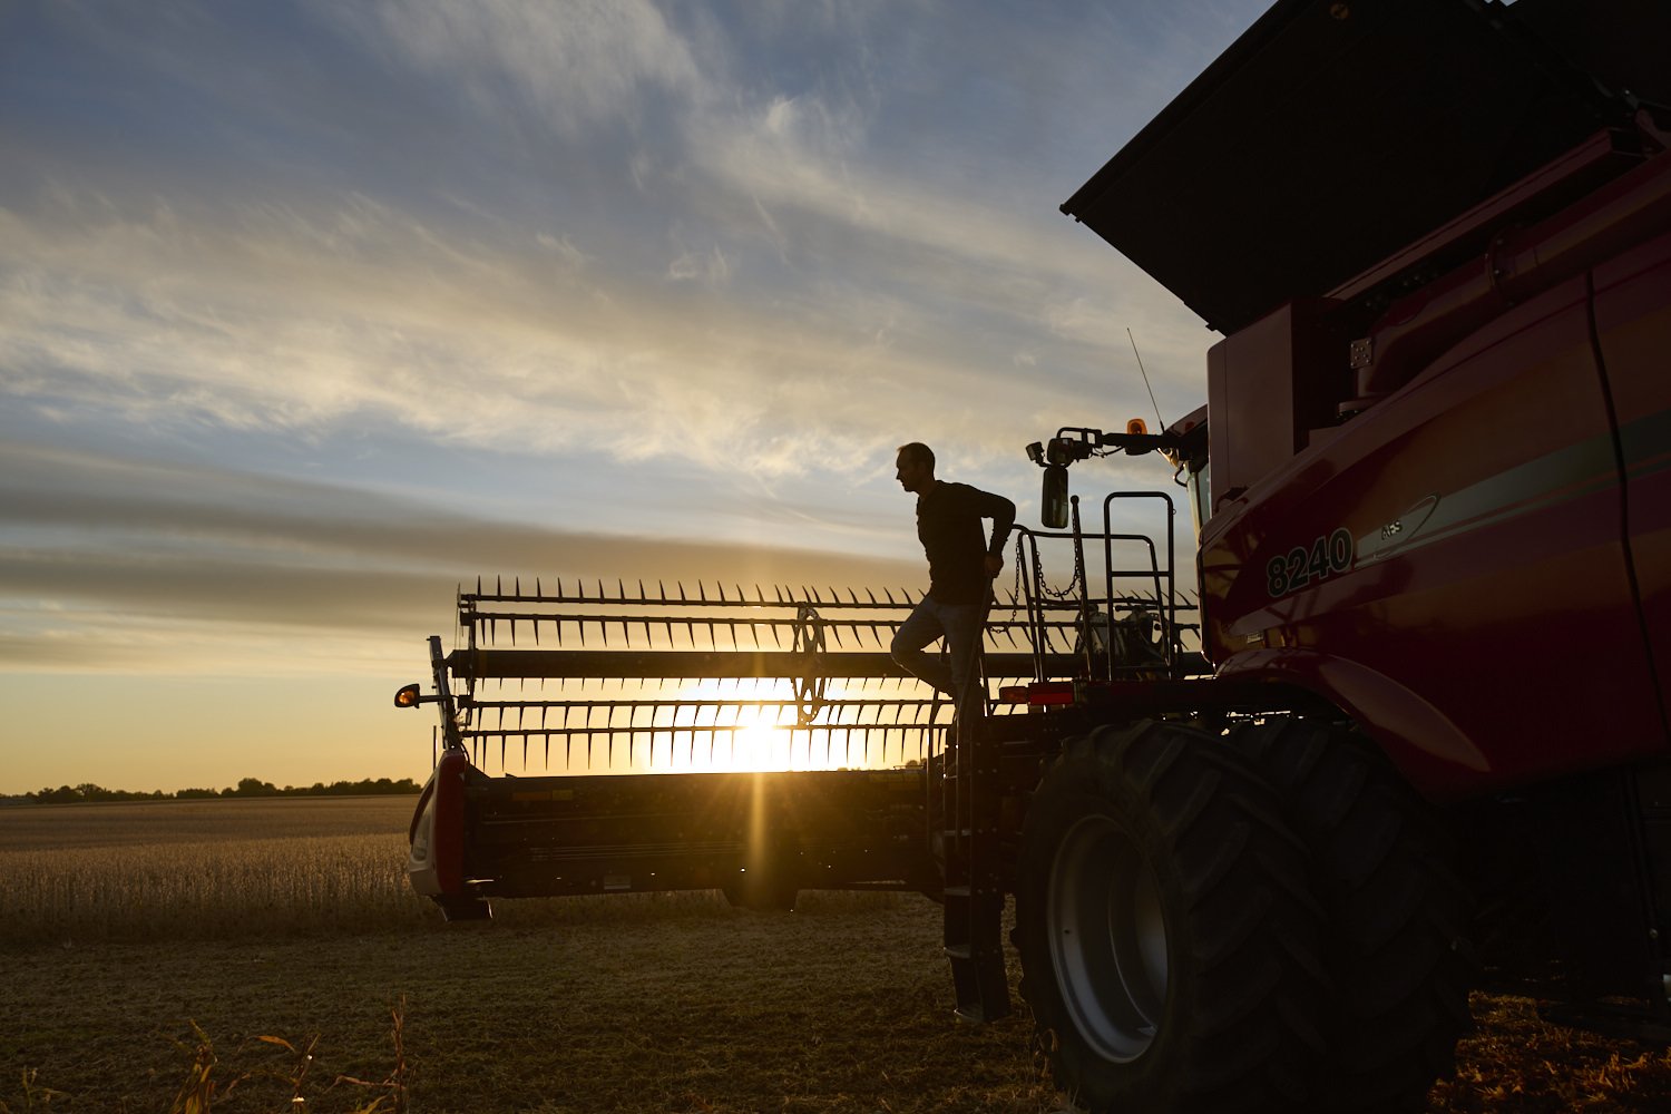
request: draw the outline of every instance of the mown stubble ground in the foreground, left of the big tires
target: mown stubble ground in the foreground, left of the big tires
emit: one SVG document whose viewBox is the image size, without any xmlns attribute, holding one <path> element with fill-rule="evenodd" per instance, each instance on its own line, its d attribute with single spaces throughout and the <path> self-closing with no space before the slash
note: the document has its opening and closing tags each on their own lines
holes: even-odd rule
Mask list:
<svg viewBox="0 0 1671 1114">
<path fill-rule="evenodd" d="M 956 1022 L 924 899 L 790 915 L 720 902 L 623 905 L 563 930 L 264 944 L 89 945 L 0 957 L 0 1101 L 53 1111 L 167 1111 L 199 1044 L 216 1077 L 251 1077 L 216 1111 L 351 1111 L 394 1072 L 403 1007 L 413 1111 L 1049 1111 L 1026 1020 Z M 287 1077 L 287 1079 L 286 1079 Z"/>
</svg>

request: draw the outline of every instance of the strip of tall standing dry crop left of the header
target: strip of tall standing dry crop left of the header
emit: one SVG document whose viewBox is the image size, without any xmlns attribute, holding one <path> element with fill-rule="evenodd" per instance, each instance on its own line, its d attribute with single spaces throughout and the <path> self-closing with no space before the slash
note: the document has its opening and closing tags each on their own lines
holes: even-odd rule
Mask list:
<svg viewBox="0 0 1671 1114">
<path fill-rule="evenodd" d="M 411 807 L 358 798 L 7 810 L 0 947 L 444 930 L 406 884 Z M 309 828 L 336 835 L 301 833 Z M 668 894 L 625 905 L 501 902 L 496 915 L 510 927 L 566 925 L 603 907 L 637 917 L 725 912 L 707 894 Z"/>
</svg>

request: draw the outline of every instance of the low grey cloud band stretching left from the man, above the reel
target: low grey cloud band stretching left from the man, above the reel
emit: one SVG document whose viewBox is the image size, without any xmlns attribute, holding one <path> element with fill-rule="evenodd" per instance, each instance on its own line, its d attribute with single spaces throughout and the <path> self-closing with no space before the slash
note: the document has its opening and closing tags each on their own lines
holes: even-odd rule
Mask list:
<svg viewBox="0 0 1671 1114">
<path fill-rule="evenodd" d="M 692 591 L 724 581 L 769 598 L 774 585 L 919 576 L 886 560 L 515 526 L 363 489 L 28 444 L 0 446 L 0 661 L 25 671 L 294 668 L 284 660 L 307 655 L 311 638 L 351 668 L 376 663 L 394 636 L 449 630 L 455 586 L 481 573 Z"/>
</svg>

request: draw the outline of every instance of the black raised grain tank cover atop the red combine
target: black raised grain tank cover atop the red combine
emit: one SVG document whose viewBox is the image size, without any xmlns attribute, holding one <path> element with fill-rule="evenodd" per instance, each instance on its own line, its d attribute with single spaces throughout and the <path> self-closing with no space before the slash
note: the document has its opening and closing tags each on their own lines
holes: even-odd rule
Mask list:
<svg viewBox="0 0 1671 1114">
<path fill-rule="evenodd" d="M 1222 332 L 1659 99 L 1661 0 L 1280 0 L 1063 212 Z"/>
</svg>

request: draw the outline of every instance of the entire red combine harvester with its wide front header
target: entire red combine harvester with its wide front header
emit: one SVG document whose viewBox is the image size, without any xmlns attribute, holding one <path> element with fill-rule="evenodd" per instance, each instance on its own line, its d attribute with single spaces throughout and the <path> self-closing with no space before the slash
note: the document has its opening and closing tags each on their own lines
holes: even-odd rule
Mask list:
<svg viewBox="0 0 1671 1114">
<path fill-rule="evenodd" d="M 513 663 L 478 645 L 478 591 L 470 646 L 431 643 L 436 693 L 404 690 L 443 705 L 446 740 L 414 885 L 451 914 L 580 875 L 658 889 L 635 863 L 755 904 L 919 889 L 944 902 L 971 1019 L 1009 1010 L 1013 895 L 1038 1047 L 1091 1111 L 1419 1111 L 1482 984 L 1671 1036 L 1666 43 L 1651 0 L 1272 7 L 1063 205 L 1225 339 L 1206 406 L 1170 429 L 1029 448 L 1044 523 L 1018 531 L 988 631 L 991 715 L 952 740 L 891 671 L 909 600 L 849 593 L 830 625 L 839 596 L 737 591 L 724 661 L 712 628 L 709 650 L 645 650 L 682 616 L 592 620 L 620 625 L 607 660 Z M 1100 531 L 1068 496 L 1071 464 L 1148 451 L 1190 491 L 1198 601 L 1175 586 L 1168 496 L 1105 498 Z M 1115 529 L 1141 508 L 1155 541 Z M 825 625 L 876 651 L 825 646 Z M 784 678 L 809 747 L 916 752 L 765 777 L 483 772 L 491 740 L 541 738 L 521 727 L 540 705 L 476 685 L 600 673 Z M 837 676 L 886 695 L 832 696 Z M 607 715 L 618 738 L 630 713 Z M 677 750 L 647 723 L 667 722 L 633 720 L 628 747 Z"/>
</svg>

